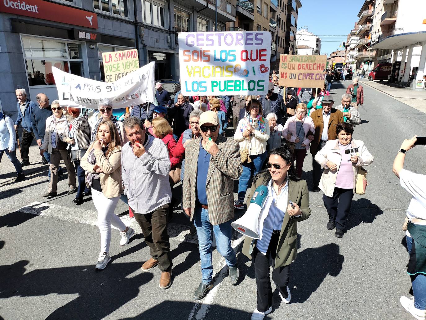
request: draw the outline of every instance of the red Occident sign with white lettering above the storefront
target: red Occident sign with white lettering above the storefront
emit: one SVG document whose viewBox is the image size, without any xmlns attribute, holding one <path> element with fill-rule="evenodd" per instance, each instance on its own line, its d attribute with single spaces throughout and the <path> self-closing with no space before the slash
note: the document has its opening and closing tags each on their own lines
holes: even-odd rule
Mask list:
<svg viewBox="0 0 426 320">
<path fill-rule="evenodd" d="M 0 12 L 98 29 L 95 13 L 43 0 L 1 0 Z"/>
</svg>

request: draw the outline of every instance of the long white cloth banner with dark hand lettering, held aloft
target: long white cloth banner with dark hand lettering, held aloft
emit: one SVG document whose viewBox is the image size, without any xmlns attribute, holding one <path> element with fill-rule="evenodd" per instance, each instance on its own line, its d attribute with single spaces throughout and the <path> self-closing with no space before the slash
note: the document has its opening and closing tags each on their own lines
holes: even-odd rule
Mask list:
<svg viewBox="0 0 426 320">
<path fill-rule="evenodd" d="M 154 62 L 107 83 L 75 76 L 52 67 L 59 103 L 64 107 L 98 108 L 99 99 L 110 99 L 114 108 L 154 102 Z"/>
</svg>

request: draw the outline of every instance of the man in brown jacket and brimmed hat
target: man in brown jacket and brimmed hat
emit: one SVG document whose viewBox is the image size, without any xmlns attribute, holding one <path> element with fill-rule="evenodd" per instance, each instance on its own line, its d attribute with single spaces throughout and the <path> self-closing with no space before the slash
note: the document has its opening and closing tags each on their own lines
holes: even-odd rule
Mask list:
<svg viewBox="0 0 426 320">
<path fill-rule="evenodd" d="M 331 108 L 333 105 L 333 96 L 325 96 L 324 99 L 322 99 L 322 108 L 311 113 L 311 118 L 314 120 L 315 125 L 314 140 L 311 142 L 314 192 L 320 192 L 318 185 L 321 179 L 321 165 L 315 161 L 315 155 L 324 147 L 328 140 L 337 139 L 336 127 L 340 122 L 344 122 L 342 111 Z M 327 130 L 324 130 L 324 128 L 327 128 Z M 312 135 L 310 138 L 312 138 Z"/>
</svg>

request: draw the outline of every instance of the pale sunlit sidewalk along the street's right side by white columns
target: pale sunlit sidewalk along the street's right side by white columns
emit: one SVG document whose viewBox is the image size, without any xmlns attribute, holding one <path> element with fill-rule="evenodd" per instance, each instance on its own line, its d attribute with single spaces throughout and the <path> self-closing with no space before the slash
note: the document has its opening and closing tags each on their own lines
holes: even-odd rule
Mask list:
<svg viewBox="0 0 426 320">
<path fill-rule="evenodd" d="M 388 84 L 387 81 L 377 82 L 363 79 L 361 80 L 361 83 L 373 89 L 379 90 L 380 92 L 386 93 L 388 96 L 391 96 L 392 98 L 403 102 L 406 105 L 417 109 L 418 111 L 426 113 L 426 90 L 417 91 L 401 88 L 392 84 Z"/>
</svg>

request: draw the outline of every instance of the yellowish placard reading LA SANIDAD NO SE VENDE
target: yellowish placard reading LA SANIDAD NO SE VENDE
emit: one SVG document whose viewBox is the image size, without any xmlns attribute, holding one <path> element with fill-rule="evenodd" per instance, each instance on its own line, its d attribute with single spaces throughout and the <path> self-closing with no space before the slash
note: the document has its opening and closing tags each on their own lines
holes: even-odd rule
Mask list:
<svg viewBox="0 0 426 320">
<path fill-rule="evenodd" d="M 139 69 L 138 50 L 102 52 L 105 82 L 114 82 Z"/>
</svg>

